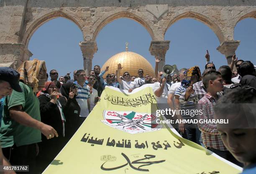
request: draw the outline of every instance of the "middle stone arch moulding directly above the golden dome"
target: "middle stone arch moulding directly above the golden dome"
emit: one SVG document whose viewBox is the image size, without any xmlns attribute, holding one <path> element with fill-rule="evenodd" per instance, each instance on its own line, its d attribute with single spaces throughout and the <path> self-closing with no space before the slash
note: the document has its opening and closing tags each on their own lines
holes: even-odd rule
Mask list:
<svg viewBox="0 0 256 174">
<path fill-rule="evenodd" d="M 93 33 L 92 40 L 93 41 L 96 40 L 96 37 L 98 36 L 98 34 L 100 33 L 100 31 L 103 27 L 105 27 L 108 23 L 112 22 L 113 20 L 116 20 L 116 19 L 119 19 L 119 18 L 130 18 L 130 19 L 135 20 L 136 22 L 140 23 L 144 28 L 146 28 L 146 30 L 150 34 L 152 40 L 154 40 L 154 38 L 155 38 L 154 32 L 153 32 L 152 28 L 148 25 L 148 23 L 146 23 L 146 21 L 143 20 L 138 15 L 135 15 L 135 14 L 130 13 L 128 11 L 122 11 L 122 12 L 119 12 L 119 13 L 115 13 L 115 14 L 109 15 L 108 17 L 103 19 L 100 22 L 100 24 L 97 26 L 97 28 L 95 29 L 95 32 Z"/>
</svg>

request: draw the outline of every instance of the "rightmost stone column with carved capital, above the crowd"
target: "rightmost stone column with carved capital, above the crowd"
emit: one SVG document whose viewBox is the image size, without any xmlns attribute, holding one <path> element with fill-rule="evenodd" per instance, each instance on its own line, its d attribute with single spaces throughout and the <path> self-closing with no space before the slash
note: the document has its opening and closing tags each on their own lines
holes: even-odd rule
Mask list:
<svg viewBox="0 0 256 174">
<path fill-rule="evenodd" d="M 220 51 L 221 54 L 224 54 L 228 65 L 231 64 L 232 56 L 235 54 L 235 51 L 240 44 L 240 41 L 223 41 L 220 46 L 218 46 L 217 50 Z M 235 70 L 236 67 L 233 68 Z"/>
</svg>

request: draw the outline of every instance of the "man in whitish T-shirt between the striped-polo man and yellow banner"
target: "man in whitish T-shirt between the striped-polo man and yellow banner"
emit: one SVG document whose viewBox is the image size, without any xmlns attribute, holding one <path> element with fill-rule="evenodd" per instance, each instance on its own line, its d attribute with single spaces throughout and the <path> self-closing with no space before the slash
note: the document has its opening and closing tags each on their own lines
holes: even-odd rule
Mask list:
<svg viewBox="0 0 256 174">
<path fill-rule="evenodd" d="M 90 91 L 90 98 L 89 98 L 90 110 L 92 110 L 93 107 L 95 107 L 99 98 L 98 91 L 93 88 L 93 85 L 95 84 L 95 82 L 96 82 L 95 75 L 90 74 L 88 77 L 88 85 L 87 85 L 87 89 Z"/>
</svg>

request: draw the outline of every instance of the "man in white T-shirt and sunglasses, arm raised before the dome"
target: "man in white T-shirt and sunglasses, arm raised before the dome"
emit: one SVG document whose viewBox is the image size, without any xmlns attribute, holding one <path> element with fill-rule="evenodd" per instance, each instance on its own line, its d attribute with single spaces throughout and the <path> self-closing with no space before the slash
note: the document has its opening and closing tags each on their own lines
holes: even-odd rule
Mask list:
<svg viewBox="0 0 256 174">
<path fill-rule="evenodd" d="M 124 72 L 123 73 L 123 79 L 120 79 L 120 71 L 123 67 L 121 66 L 121 64 L 118 64 L 118 71 L 117 71 L 117 80 L 118 83 L 121 84 L 121 88 L 123 90 L 128 90 L 129 92 L 132 92 L 135 89 L 135 84 L 134 82 L 131 81 L 131 76 L 130 73 L 128 72 Z"/>
</svg>

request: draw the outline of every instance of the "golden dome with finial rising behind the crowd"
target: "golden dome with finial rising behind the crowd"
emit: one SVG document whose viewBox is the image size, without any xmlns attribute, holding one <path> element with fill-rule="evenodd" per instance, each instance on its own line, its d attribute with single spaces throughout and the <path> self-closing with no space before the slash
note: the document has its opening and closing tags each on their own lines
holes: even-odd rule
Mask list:
<svg viewBox="0 0 256 174">
<path fill-rule="evenodd" d="M 129 72 L 131 77 L 138 76 L 138 69 L 143 69 L 144 76 L 149 74 L 150 76 L 154 77 L 153 67 L 143 56 L 131 51 L 124 51 L 115 54 L 105 62 L 101 69 L 105 70 L 108 66 L 109 68 L 108 71 L 104 74 L 103 78 L 105 79 L 107 74 L 115 74 L 119 63 L 123 67 L 120 71 L 120 76 L 123 76 L 124 72 Z"/>
</svg>

